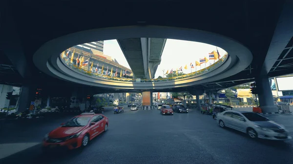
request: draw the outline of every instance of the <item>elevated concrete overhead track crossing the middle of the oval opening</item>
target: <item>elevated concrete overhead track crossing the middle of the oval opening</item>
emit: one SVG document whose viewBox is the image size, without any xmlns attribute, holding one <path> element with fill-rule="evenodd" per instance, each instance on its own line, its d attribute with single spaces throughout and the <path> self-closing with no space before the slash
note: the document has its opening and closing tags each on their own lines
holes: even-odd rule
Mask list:
<svg viewBox="0 0 293 164">
<path fill-rule="evenodd" d="M 165 38 L 118 39 L 135 78 L 154 78 L 166 43 Z"/>
</svg>

